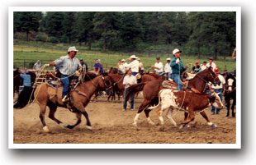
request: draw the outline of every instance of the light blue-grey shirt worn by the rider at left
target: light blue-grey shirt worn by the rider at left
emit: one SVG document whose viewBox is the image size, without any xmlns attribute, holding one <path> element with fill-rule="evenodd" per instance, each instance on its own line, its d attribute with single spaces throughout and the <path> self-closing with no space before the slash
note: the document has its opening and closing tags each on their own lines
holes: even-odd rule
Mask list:
<svg viewBox="0 0 256 165">
<path fill-rule="evenodd" d="M 73 57 L 73 60 L 67 56 L 59 57 L 59 59 L 55 60 L 55 65 L 59 66 L 59 71 L 62 75 L 72 75 L 75 71 L 77 71 L 81 64 L 78 61 L 78 58 Z"/>
</svg>

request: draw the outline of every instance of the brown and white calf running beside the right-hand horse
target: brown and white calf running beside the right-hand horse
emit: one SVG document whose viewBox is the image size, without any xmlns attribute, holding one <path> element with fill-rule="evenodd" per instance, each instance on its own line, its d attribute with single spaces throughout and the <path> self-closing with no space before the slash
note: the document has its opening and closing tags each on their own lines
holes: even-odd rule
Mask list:
<svg viewBox="0 0 256 165">
<path fill-rule="evenodd" d="M 163 112 L 165 109 L 168 109 L 167 117 L 170 121 L 173 122 L 174 126 L 177 126 L 176 122 L 172 117 L 172 110 L 178 108 L 185 112 L 188 112 L 189 117 L 183 122 L 183 126 L 188 126 L 190 121 L 195 119 L 195 112 L 202 112 L 205 108 L 213 105 L 218 108 L 223 108 L 223 104 L 220 100 L 218 94 L 197 94 L 192 92 L 178 91 L 172 89 L 162 89 L 159 92 L 159 104 L 150 107 L 149 109 L 158 108 L 161 105 L 161 108 L 157 110 L 159 120 L 161 121 L 161 129 L 164 129 L 164 118 Z M 211 121 L 207 121 L 207 124 L 216 127 Z"/>
</svg>

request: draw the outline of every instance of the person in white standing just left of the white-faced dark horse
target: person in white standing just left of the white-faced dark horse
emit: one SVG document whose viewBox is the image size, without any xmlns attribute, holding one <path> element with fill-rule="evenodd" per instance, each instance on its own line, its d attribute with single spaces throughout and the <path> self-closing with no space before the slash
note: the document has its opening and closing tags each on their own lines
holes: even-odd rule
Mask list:
<svg viewBox="0 0 256 165">
<path fill-rule="evenodd" d="M 223 76 L 220 75 L 219 73 L 219 68 L 215 68 L 214 72 L 216 74 L 216 76 L 218 76 L 219 80 L 220 80 L 220 85 L 209 85 L 209 94 L 212 94 L 213 92 L 215 92 L 216 94 L 219 95 L 220 97 L 220 101 L 222 101 L 222 94 L 225 93 L 225 78 Z M 211 114 L 214 115 L 215 114 L 215 107 L 211 106 Z M 219 114 L 220 112 L 220 108 L 216 109 L 216 114 Z"/>
</svg>

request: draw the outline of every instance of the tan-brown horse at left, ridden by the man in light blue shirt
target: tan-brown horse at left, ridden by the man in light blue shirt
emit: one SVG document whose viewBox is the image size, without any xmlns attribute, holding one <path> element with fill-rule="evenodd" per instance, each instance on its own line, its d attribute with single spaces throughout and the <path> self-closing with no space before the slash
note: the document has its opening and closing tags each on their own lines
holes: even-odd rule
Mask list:
<svg viewBox="0 0 256 165">
<path fill-rule="evenodd" d="M 58 89 L 56 91 L 55 88 L 50 87 L 46 83 L 43 83 L 36 88 L 34 97 L 36 99 L 36 103 L 38 103 L 40 107 L 40 121 L 42 122 L 44 131 L 49 131 L 45 124 L 46 106 L 50 108 L 50 119 L 57 122 L 60 126 L 69 129 L 78 126 L 81 122 L 81 115 L 83 114 L 87 119 L 88 129 L 92 130 L 88 113 L 84 108 L 88 105 L 92 95 L 95 94 L 98 89 L 110 89 L 111 81 L 106 73 L 102 76 L 96 76 L 95 78 L 89 76 L 85 77 L 88 77 L 88 81 L 77 85 L 76 89 L 70 91 L 69 103 L 63 103 L 61 101 L 62 89 Z M 78 119 L 77 122 L 74 125 L 65 125 L 62 121 L 56 119 L 55 112 L 58 107 L 72 108 L 74 110 L 73 112 L 76 113 L 76 117 Z"/>
</svg>

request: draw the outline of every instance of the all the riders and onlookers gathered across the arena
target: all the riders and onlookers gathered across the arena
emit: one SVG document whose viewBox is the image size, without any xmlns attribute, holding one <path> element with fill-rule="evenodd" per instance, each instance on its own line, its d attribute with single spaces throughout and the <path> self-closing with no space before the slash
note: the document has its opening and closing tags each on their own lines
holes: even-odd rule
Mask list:
<svg viewBox="0 0 256 165">
<path fill-rule="evenodd" d="M 234 50 L 232 57 L 235 59 L 235 51 Z M 55 66 L 59 69 L 60 72 L 60 78 L 61 82 L 64 85 L 63 91 L 62 91 L 62 101 L 65 103 L 69 100 L 69 83 L 70 80 L 73 79 L 73 74 L 75 71 L 81 69 L 82 67 L 85 68 L 85 71 L 88 72 L 88 64 L 83 61 L 83 57 L 80 57 L 79 60 L 76 57 L 76 54 L 78 53 L 78 50 L 75 47 L 69 47 L 68 53 L 66 56 L 59 57 L 59 59 L 56 59 L 54 62 L 50 62 L 49 64 L 46 64 L 45 66 Z M 160 57 L 156 57 L 156 62 L 154 63 L 154 66 L 151 66 L 152 69 L 154 69 L 154 72 L 163 75 L 164 73 L 168 77 L 168 80 L 173 80 L 178 85 L 178 90 L 183 90 L 183 79 L 182 74 L 183 71 L 186 71 L 187 68 L 190 67 L 189 64 L 186 66 L 183 65 L 183 61 L 181 59 L 181 53 L 178 48 L 175 48 L 173 50 L 173 59 L 171 57 L 166 58 L 166 64 L 165 66 L 161 62 Z M 143 66 L 143 63 L 140 61 L 139 57 L 136 57 L 135 55 L 131 55 L 129 57 L 130 63 L 126 62 L 126 59 L 119 60 L 117 62 L 117 71 L 119 74 L 126 74 L 123 80 L 123 85 L 125 85 L 125 94 L 124 98 L 126 97 L 126 91 L 129 89 L 131 85 L 135 85 L 137 83 L 136 75 L 138 73 L 143 74 L 145 69 Z M 40 60 L 38 60 L 34 66 L 33 69 L 35 71 L 39 71 L 42 64 L 40 63 Z M 199 73 L 203 70 L 205 70 L 207 67 L 210 67 L 215 72 L 216 76 L 220 79 L 219 85 L 209 85 L 209 94 L 216 92 L 219 94 L 220 99 L 222 97 L 222 94 L 225 91 L 225 79 L 223 76 L 219 73 L 219 68 L 216 67 L 216 63 L 213 62 L 213 59 L 209 59 L 209 62 L 204 61 L 201 65 L 199 65 L 199 62 L 196 61 L 194 66 L 192 66 L 192 73 Z M 100 59 L 96 59 L 95 63 L 93 65 L 93 71 L 96 75 L 102 75 L 102 72 L 104 71 L 103 65 L 100 61 Z M 26 86 L 26 88 L 31 88 L 31 82 L 29 81 L 29 76 L 26 75 L 26 71 L 21 74 L 21 78 L 23 79 L 23 84 Z M 134 97 L 131 97 L 130 99 L 130 109 L 134 109 Z M 126 111 L 126 103 L 123 103 L 123 110 Z M 220 109 L 217 108 L 215 112 L 215 108 L 211 108 L 212 114 L 219 114 Z"/>
</svg>

